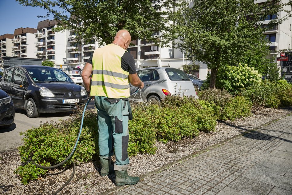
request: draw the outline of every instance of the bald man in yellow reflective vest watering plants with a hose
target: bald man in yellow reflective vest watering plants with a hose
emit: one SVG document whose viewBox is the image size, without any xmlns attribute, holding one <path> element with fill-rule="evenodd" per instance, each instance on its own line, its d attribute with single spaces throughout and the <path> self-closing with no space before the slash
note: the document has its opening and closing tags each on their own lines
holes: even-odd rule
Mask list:
<svg viewBox="0 0 292 195">
<path fill-rule="evenodd" d="M 131 177 L 127 172 L 128 120 L 129 114 L 131 115 L 128 97 L 129 82 L 140 89 L 144 87 L 144 83 L 136 73 L 133 56 L 127 51 L 130 43 L 130 33 L 127 30 L 120 30 L 111 44 L 94 51 L 81 75 L 86 90 L 94 96 L 97 108 L 100 174 L 106 176 L 115 173 L 117 186 L 139 182 L 139 177 Z M 111 157 L 114 149 L 116 162 L 112 166 Z"/>
</svg>

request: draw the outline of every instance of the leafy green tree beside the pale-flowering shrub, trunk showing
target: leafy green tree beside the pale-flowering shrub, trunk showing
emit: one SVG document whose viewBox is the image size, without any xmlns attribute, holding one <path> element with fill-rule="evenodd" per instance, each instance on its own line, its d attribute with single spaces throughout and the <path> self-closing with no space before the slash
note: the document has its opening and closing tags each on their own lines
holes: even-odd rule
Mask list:
<svg viewBox="0 0 292 195">
<path fill-rule="evenodd" d="M 227 65 L 248 64 L 260 74 L 267 73 L 272 59 L 267 57 L 268 40 L 262 33 L 291 16 L 291 10 L 286 11 L 286 17 L 262 26 L 266 16 L 284 10 L 283 6 L 291 2 L 278 4 L 279 0 L 261 4 L 253 0 L 196 0 L 190 4 L 183 0 L 172 15 L 172 30 L 180 40 L 177 48 L 189 60 L 207 63 L 211 88 L 215 87 L 218 69 Z"/>
</svg>

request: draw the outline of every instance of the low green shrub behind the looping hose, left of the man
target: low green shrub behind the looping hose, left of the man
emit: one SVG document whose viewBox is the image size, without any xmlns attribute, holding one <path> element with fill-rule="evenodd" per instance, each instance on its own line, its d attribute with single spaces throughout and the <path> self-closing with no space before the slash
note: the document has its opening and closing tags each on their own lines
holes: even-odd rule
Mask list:
<svg viewBox="0 0 292 195">
<path fill-rule="evenodd" d="M 75 117 L 77 115 L 78 111 L 75 113 Z M 85 121 L 95 121 L 95 125 L 91 124 L 92 126 L 89 125 L 89 128 L 84 122 L 75 153 L 63 166 L 70 165 L 73 162 L 78 164 L 92 160 L 95 153 L 93 140 L 95 133 L 93 132 L 97 132 L 96 116 L 93 110 L 86 112 Z M 37 164 L 51 166 L 60 163 L 69 155 L 75 144 L 80 126 L 80 121 L 76 120 L 75 117 L 60 123 L 46 122 L 38 128 L 28 129 L 26 132 L 21 133 L 21 135 L 25 136 L 23 145 L 19 147 L 23 165 L 18 167 L 14 173 L 22 178 L 21 182 L 23 184 L 46 173 L 46 170 L 31 164 L 30 161 L 32 159 Z"/>
</svg>

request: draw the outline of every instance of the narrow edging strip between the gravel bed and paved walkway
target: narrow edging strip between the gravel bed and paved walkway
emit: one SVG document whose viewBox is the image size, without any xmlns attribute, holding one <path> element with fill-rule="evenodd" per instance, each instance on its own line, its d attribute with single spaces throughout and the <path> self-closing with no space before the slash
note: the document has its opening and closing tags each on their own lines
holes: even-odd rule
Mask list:
<svg viewBox="0 0 292 195">
<path fill-rule="evenodd" d="M 240 134 L 238 134 L 238 135 L 236 135 L 236 136 L 234 136 L 234 137 L 228 138 L 228 139 L 226 139 L 226 140 L 224 140 L 224 141 L 220 141 L 220 142 L 217 143 L 217 144 L 214 144 L 214 145 L 211 145 L 211 146 L 209 146 L 209 147 L 207 147 L 207 148 L 205 148 L 205 149 L 199 150 L 198 152 L 192 153 L 192 154 L 190 154 L 190 155 L 188 155 L 188 156 L 186 156 L 186 157 L 183 157 L 183 158 L 181 158 L 181 159 L 178 159 L 178 160 L 176 160 L 176 161 L 174 161 L 174 162 L 171 162 L 171 163 L 169 163 L 169 164 L 167 164 L 167 165 L 164 165 L 164 166 L 162 166 L 162 167 L 160 167 L 160 168 L 158 168 L 158 169 L 155 169 L 155 170 L 153 170 L 153 171 L 150 171 L 149 173 L 146 173 L 146 174 L 144 174 L 144 175 L 139 176 L 139 177 L 140 177 L 140 181 L 144 181 L 145 178 L 148 178 L 148 177 L 150 177 L 150 176 L 152 176 L 152 175 L 155 175 L 156 173 L 159 173 L 159 172 L 162 172 L 162 171 L 164 171 L 164 170 L 166 170 L 166 169 L 169 169 L 169 168 L 171 168 L 173 165 L 176 165 L 176 164 L 178 164 L 178 163 L 180 163 L 180 162 L 186 161 L 186 160 L 188 160 L 188 159 L 190 159 L 190 158 L 192 158 L 192 157 L 198 156 L 198 155 L 200 155 L 200 154 L 202 154 L 202 153 L 204 153 L 204 152 L 207 152 L 207 151 L 209 151 L 209 150 L 211 150 L 211 149 L 213 149 L 213 148 L 217 148 L 217 147 L 219 147 L 219 146 L 225 144 L 225 143 L 228 142 L 228 141 L 235 140 L 235 139 L 238 138 L 238 137 L 241 137 L 241 136 L 243 136 L 243 135 L 245 135 L 245 134 L 247 134 L 247 133 L 250 133 L 250 132 L 256 131 L 256 129 L 259 129 L 260 127 L 263 127 L 263 126 L 269 125 L 269 124 L 271 124 L 271 123 L 273 123 L 273 122 L 276 122 L 276 121 L 278 121 L 278 120 L 280 120 L 280 119 L 282 119 L 282 118 L 285 118 L 285 117 L 287 117 L 287 116 L 290 116 L 290 115 L 292 115 L 292 112 L 290 112 L 290 113 L 288 113 L 288 114 L 285 114 L 285 115 L 283 115 L 283 116 L 281 116 L 281 117 L 279 117 L 279 118 L 276 118 L 276 119 L 274 119 L 274 120 L 272 120 L 272 121 L 266 122 L 266 123 L 264 123 L 264 124 L 262 124 L 262 125 L 259 125 L 259 126 L 255 127 L 255 128 L 252 128 L 252 129 L 250 129 L 250 130 L 247 130 L 246 132 L 240 133 Z M 119 186 L 119 187 L 116 186 L 116 187 L 114 187 L 114 188 L 111 188 L 111 189 L 106 190 L 105 192 L 100 193 L 100 195 L 114 194 L 114 193 L 116 193 L 117 191 L 119 191 L 120 189 L 127 188 L 128 186 L 129 186 L 129 185 L 124 185 L 124 186 Z"/>
</svg>

